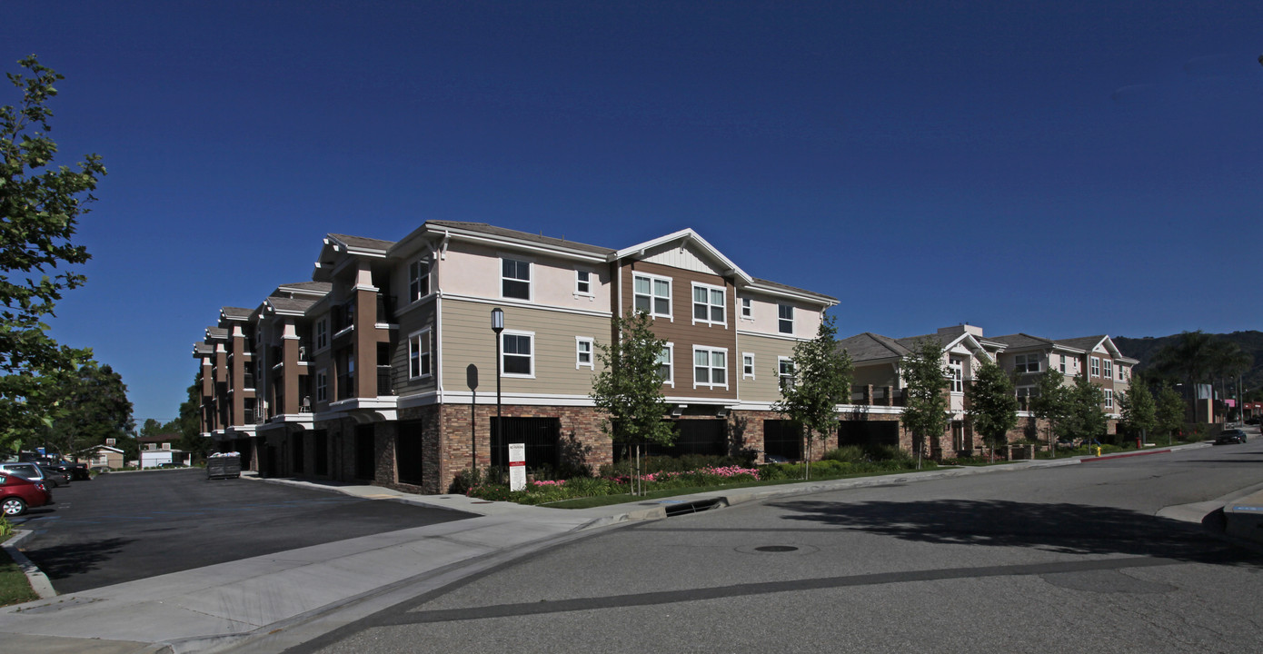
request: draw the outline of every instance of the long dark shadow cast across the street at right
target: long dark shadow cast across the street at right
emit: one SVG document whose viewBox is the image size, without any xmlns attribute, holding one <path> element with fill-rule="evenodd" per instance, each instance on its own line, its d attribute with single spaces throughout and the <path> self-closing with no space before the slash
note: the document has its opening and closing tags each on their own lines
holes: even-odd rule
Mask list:
<svg viewBox="0 0 1263 654">
<path fill-rule="evenodd" d="M 1028 547 L 1071 554 L 1132 554 L 1200 563 L 1260 563 L 1197 525 L 1110 506 L 1017 501 L 786 501 L 787 520 L 823 523 L 903 540 Z"/>
</svg>

